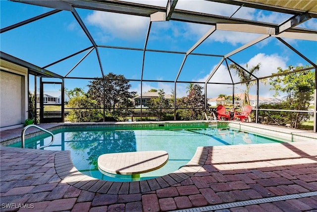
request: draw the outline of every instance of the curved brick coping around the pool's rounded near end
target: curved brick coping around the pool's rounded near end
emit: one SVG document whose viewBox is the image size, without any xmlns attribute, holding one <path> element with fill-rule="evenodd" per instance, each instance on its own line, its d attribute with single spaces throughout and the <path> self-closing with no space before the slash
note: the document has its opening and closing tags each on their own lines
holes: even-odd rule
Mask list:
<svg viewBox="0 0 317 212">
<path fill-rule="evenodd" d="M 49 151 L 49 150 L 48 150 Z M 73 165 L 70 157 L 70 151 L 57 152 L 54 157 L 55 170 L 62 183 L 67 183 L 78 189 L 95 192 L 100 194 L 118 194 L 119 184 L 147 184 L 148 188 L 144 188 L 139 193 L 156 191 L 175 184 L 181 183 L 184 180 L 192 177 L 199 172 L 205 164 L 208 156 L 209 147 L 199 146 L 192 159 L 180 169 L 152 179 L 132 182 L 113 182 L 102 179 L 97 179 L 88 175 L 85 175 L 77 170 Z M 60 164 L 60 162 L 62 162 Z M 57 165 L 59 164 L 59 165 Z M 130 186 L 129 186 L 130 187 Z M 147 187 L 147 186 L 146 186 Z M 142 186 L 140 186 L 142 190 Z"/>
</svg>

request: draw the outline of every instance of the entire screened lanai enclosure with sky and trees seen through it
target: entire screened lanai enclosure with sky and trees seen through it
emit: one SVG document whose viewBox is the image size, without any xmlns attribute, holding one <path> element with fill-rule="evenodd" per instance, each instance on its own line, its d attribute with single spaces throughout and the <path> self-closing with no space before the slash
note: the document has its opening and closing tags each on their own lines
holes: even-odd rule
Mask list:
<svg viewBox="0 0 317 212">
<path fill-rule="evenodd" d="M 316 0 L 1 1 L 1 128 L 202 119 L 317 132 Z"/>
</svg>

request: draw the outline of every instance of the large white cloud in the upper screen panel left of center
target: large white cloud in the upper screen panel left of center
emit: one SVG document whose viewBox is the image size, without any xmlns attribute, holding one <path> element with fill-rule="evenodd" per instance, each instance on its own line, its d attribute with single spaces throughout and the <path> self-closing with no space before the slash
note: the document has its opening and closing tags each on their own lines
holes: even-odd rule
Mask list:
<svg viewBox="0 0 317 212">
<path fill-rule="evenodd" d="M 89 24 L 101 28 L 100 36 L 108 39 L 144 39 L 149 25 L 149 18 L 146 17 L 103 11 L 94 11 L 86 19 Z"/>
</svg>

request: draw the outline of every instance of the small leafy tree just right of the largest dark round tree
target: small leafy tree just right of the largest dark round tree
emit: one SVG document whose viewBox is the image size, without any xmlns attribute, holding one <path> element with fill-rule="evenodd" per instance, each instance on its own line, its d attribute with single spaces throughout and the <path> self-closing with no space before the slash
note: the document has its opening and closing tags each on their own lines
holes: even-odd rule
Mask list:
<svg viewBox="0 0 317 212">
<path fill-rule="evenodd" d="M 148 107 L 156 114 L 159 120 L 163 120 L 164 115 L 170 108 L 169 100 L 165 98 L 163 89 L 159 89 L 159 98 L 153 98 L 148 101 Z"/>
</svg>

